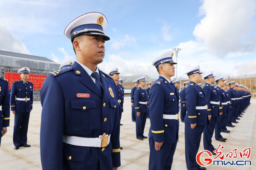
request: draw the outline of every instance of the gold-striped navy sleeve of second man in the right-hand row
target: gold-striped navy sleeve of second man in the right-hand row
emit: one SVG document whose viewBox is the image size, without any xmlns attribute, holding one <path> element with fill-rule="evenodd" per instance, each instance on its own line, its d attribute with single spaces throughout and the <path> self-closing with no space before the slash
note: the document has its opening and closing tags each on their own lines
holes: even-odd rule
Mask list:
<svg viewBox="0 0 256 170">
<path fill-rule="evenodd" d="M 188 120 L 190 124 L 197 123 L 196 121 L 196 89 L 188 87 L 185 90 L 186 93 L 186 109 L 188 114 Z"/>
</svg>

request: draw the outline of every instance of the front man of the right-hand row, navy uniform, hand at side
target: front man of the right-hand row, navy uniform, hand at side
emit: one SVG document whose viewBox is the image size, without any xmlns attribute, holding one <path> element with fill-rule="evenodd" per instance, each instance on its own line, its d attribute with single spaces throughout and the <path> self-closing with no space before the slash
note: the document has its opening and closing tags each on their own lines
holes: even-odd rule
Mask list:
<svg viewBox="0 0 256 170">
<path fill-rule="evenodd" d="M 177 64 L 173 51 L 157 58 L 152 65 L 159 78 L 154 82 L 149 98 L 149 170 L 170 170 L 177 146 L 179 131 L 179 96 L 171 81 Z"/>
</svg>

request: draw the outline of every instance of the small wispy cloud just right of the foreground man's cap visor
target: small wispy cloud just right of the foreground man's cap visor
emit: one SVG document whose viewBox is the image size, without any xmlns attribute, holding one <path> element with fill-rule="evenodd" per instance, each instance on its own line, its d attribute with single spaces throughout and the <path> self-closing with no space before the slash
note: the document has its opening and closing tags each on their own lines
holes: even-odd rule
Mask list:
<svg viewBox="0 0 256 170">
<path fill-rule="evenodd" d="M 112 43 L 111 48 L 114 50 L 119 50 L 120 48 L 136 44 L 136 39 L 134 37 L 130 37 L 129 35 L 114 39 L 113 41 L 114 42 Z"/>
</svg>

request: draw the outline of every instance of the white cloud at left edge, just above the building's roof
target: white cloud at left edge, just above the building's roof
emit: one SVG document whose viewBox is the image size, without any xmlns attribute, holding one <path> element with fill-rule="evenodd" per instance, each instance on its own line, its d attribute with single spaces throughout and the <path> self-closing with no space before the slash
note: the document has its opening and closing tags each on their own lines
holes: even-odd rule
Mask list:
<svg viewBox="0 0 256 170">
<path fill-rule="evenodd" d="M 29 54 L 27 47 L 21 40 L 0 23 L 0 50 L 11 51 L 15 53 Z"/>
</svg>

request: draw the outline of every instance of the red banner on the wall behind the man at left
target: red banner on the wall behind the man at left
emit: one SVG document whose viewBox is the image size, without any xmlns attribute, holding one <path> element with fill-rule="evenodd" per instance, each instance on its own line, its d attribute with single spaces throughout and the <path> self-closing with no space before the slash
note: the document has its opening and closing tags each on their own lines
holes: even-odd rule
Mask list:
<svg viewBox="0 0 256 170">
<path fill-rule="evenodd" d="M 29 74 L 28 81 L 33 83 L 33 89 L 41 89 L 46 77 L 47 75 Z M 18 73 L 5 72 L 5 79 L 8 80 L 11 89 L 13 82 L 21 80 L 21 77 Z"/>
</svg>

